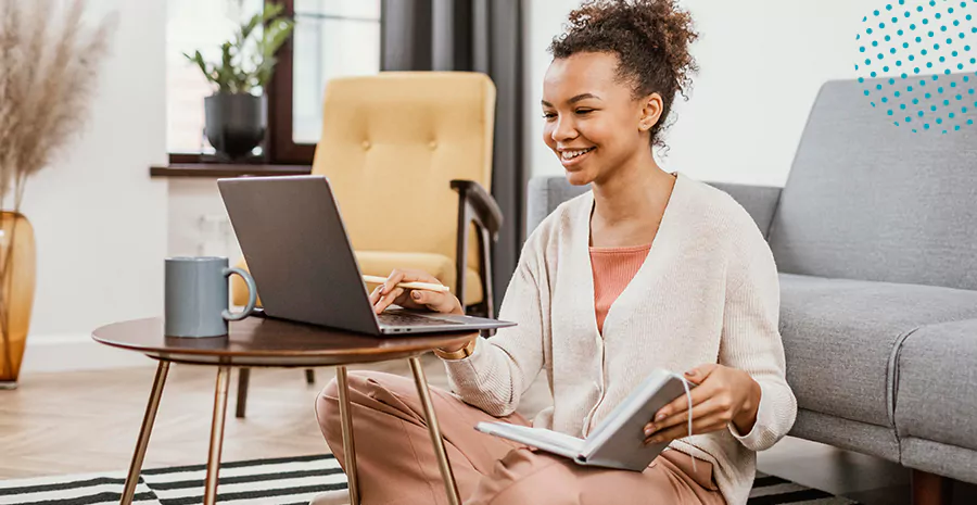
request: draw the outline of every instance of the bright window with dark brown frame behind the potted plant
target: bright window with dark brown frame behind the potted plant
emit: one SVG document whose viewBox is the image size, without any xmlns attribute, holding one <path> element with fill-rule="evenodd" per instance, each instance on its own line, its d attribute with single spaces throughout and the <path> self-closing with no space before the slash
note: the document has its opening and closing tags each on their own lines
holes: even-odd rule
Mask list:
<svg viewBox="0 0 977 505">
<path fill-rule="evenodd" d="M 322 124 L 322 91 L 335 77 L 380 71 L 381 0 L 278 0 L 295 18 L 268 89 L 268 163 L 312 163 Z M 168 0 L 167 148 L 170 161 L 201 161 L 214 149 L 203 134 L 212 86 L 182 53 L 219 55 L 240 20 L 263 0 Z"/>
</svg>

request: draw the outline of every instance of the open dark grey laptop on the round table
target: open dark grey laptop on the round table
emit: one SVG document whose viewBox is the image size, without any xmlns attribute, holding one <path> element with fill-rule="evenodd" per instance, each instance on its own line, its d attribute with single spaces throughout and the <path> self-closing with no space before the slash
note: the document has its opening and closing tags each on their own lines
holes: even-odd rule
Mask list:
<svg viewBox="0 0 977 505">
<path fill-rule="evenodd" d="M 393 307 L 377 315 L 325 176 L 218 179 L 217 188 L 266 316 L 371 336 L 515 326 Z"/>
</svg>

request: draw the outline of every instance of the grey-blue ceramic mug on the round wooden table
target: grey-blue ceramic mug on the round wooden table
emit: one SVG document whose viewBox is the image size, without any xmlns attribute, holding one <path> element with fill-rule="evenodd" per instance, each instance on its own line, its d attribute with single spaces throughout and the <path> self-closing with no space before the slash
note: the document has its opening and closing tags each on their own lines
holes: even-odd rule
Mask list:
<svg viewBox="0 0 977 505">
<path fill-rule="evenodd" d="M 248 306 L 232 314 L 227 310 L 227 278 L 238 274 L 248 285 Z M 226 257 L 167 257 L 164 333 L 167 337 L 221 337 L 227 321 L 254 312 L 257 288 L 241 268 L 228 268 Z"/>
</svg>

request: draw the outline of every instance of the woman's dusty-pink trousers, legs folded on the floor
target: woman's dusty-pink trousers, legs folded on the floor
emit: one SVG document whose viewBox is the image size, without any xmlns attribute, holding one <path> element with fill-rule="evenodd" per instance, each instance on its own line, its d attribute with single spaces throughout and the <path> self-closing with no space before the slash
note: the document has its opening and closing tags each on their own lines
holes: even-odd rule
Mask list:
<svg viewBox="0 0 977 505">
<path fill-rule="evenodd" d="M 446 504 L 444 483 L 411 379 L 376 371 L 348 376 L 353 435 L 364 505 Z M 431 388 L 448 459 L 466 505 L 725 504 L 712 465 L 665 451 L 644 472 L 581 467 L 481 433 L 479 421 L 529 426 L 519 414 L 495 418 Z M 332 380 L 317 399 L 326 442 L 343 464 L 339 394 Z"/>
</svg>

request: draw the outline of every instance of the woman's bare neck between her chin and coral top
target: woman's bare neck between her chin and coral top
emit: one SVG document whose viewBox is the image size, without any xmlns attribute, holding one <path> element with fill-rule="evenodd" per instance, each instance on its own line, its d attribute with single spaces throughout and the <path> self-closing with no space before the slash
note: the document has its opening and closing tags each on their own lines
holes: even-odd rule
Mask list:
<svg viewBox="0 0 977 505">
<path fill-rule="evenodd" d="M 605 180 L 594 181 L 594 217 L 622 223 L 660 216 L 674 182 L 675 177 L 662 171 L 648 150 Z"/>
</svg>

